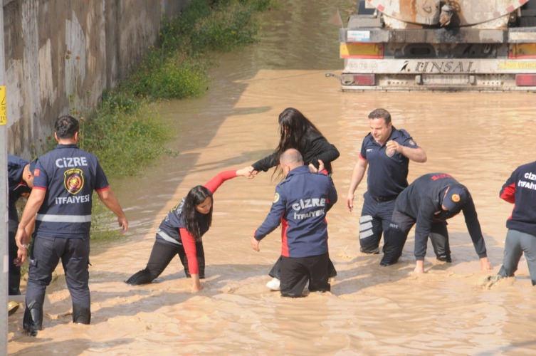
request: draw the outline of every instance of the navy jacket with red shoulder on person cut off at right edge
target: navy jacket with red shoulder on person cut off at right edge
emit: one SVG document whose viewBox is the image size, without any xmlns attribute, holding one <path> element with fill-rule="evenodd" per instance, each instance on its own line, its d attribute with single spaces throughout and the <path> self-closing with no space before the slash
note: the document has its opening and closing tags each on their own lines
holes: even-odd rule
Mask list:
<svg viewBox="0 0 536 356">
<path fill-rule="evenodd" d="M 500 197 L 514 204 L 508 229 L 536 236 L 536 162 L 517 167 L 500 189 Z"/>
</svg>

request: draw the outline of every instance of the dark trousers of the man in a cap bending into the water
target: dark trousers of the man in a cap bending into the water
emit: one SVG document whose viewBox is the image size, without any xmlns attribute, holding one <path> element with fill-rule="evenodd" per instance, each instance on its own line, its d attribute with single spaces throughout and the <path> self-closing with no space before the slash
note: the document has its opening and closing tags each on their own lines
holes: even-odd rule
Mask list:
<svg viewBox="0 0 536 356">
<path fill-rule="evenodd" d="M 397 210 L 393 211 L 391 221 L 389 229 L 384 234 L 384 256 L 380 263 L 382 265 L 390 265 L 399 260 L 409 231 L 416 223 L 416 219 Z M 448 244 L 446 221 L 432 223 L 429 237 L 437 258 L 450 261 L 451 247 Z M 416 249 L 415 251 L 419 254 L 426 253 L 426 249 L 424 251 L 417 251 Z"/>
</svg>

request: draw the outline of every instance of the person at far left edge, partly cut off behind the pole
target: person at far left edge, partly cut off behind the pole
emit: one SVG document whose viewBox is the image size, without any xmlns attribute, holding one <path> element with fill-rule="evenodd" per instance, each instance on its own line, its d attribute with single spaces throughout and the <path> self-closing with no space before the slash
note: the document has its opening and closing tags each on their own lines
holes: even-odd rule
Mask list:
<svg viewBox="0 0 536 356">
<path fill-rule="evenodd" d="M 8 175 L 8 226 L 9 226 L 9 295 L 20 295 L 21 290 L 21 267 L 15 263 L 17 258 L 17 245 L 15 234 L 19 227 L 19 215 L 17 214 L 16 201 L 20 197 L 28 197 L 33 187 L 33 169 L 36 162 L 28 162 L 20 157 L 8 155 L 7 175 Z M 26 232 L 31 234 L 33 224 L 28 225 Z M 10 302 L 8 305 L 9 314 L 15 313 L 19 308 L 19 303 Z"/>
</svg>

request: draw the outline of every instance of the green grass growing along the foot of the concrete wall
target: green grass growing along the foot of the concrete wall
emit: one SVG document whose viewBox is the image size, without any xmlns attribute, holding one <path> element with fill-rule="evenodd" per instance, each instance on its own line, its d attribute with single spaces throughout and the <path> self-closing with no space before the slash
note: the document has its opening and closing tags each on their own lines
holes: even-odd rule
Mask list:
<svg viewBox="0 0 536 356">
<path fill-rule="evenodd" d="M 209 81 L 206 70 L 213 64 L 208 54 L 253 43 L 255 14 L 272 3 L 191 0 L 180 16 L 162 26 L 157 46 L 149 49 L 137 70 L 104 93 L 99 107 L 83 120 L 80 147 L 97 155 L 111 177 L 136 174 L 161 155 L 177 154 L 166 148 L 172 134 L 151 103 L 202 95 Z M 92 239 L 119 236 L 110 228 L 114 216 L 100 201 L 93 209 Z"/>
</svg>

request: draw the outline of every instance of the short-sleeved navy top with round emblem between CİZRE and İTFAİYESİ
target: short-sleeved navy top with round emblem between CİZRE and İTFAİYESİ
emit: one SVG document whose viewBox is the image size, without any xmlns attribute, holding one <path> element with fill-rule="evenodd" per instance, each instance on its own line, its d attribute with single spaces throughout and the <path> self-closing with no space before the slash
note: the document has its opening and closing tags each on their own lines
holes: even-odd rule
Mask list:
<svg viewBox="0 0 536 356">
<path fill-rule="evenodd" d="M 97 157 L 76 145 L 58 145 L 39 157 L 33 176 L 33 189 L 46 190 L 36 217 L 36 234 L 89 237 L 93 191 L 108 188 Z"/>
</svg>

